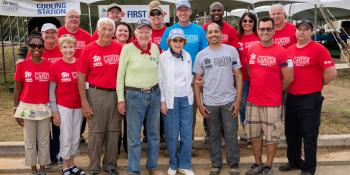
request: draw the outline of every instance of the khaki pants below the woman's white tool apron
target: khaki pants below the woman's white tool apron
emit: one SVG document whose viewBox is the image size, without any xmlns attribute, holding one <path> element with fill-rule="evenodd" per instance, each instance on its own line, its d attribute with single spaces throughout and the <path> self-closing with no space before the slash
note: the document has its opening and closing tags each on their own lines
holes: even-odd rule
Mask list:
<svg viewBox="0 0 350 175">
<path fill-rule="evenodd" d="M 50 164 L 51 118 L 24 120 L 25 165 Z"/>
</svg>

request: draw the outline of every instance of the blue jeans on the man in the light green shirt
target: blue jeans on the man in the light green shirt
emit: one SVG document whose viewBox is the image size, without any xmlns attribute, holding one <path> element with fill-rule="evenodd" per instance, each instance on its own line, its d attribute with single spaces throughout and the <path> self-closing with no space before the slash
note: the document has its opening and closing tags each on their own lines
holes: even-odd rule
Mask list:
<svg viewBox="0 0 350 175">
<path fill-rule="evenodd" d="M 147 169 L 158 167 L 160 90 L 151 93 L 126 91 L 128 172 L 140 174 L 141 128 L 146 120 Z"/>
</svg>

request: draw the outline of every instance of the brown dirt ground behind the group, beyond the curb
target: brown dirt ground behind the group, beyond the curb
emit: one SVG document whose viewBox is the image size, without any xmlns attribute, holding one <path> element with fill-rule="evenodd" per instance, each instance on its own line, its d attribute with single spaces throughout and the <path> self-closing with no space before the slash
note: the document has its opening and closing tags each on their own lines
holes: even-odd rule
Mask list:
<svg viewBox="0 0 350 175">
<path fill-rule="evenodd" d="M 12 93 L 8 91 L 9 84 L 0 85 L 0 142 L 23 141 L 23 131 L 13 119 Z M 350 70 L 338 71 L 330 85 L 324 87 L 325 97 L 320 134 L 350 133 Z M 199 114 L 199 112 L 198 112 Z M 195 136 L 204 136 L 203 119 L 197 115 Z M 241 129 L 239 132 L 242 132 Z M 86 133 L 84 134 L 86 137 Z"/>
</svg>

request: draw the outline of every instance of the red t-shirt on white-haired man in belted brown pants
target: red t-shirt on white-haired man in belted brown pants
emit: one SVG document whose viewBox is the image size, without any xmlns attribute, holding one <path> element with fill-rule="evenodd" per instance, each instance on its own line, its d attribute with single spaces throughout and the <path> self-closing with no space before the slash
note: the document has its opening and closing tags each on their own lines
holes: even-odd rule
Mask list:
<svg viewBox="0 0 350 175">
<path fill-rule="evenodd" d="M 115 41 L 107 47 L 101 47 L 96 42 L 90 43 L 81 53 L 79 72 L 86 74 L 90 85 L 115 88 L 122 47 Z"/>
</svg>

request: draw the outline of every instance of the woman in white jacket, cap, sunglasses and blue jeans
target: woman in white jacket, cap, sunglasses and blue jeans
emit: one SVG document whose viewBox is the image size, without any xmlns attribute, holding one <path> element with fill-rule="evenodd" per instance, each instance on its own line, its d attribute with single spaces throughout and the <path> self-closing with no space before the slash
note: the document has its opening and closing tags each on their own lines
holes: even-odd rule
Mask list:
<svg viewBox="0 0 350 175">
<path fill-rule="evenodd" d="M 191 170 L 193 91 L 191 56 L 183 47 L 183 30 L 172 29 L 167 39 L 169 49 L 159 57 L 158 78 L 161 91 L 161 111 L 165 115 L 164 129 L 169 155 L 168 175 L 178 170 L 193 175 Z M 177 151 L 180 135 L 180 149 Z"/>
</svg>

